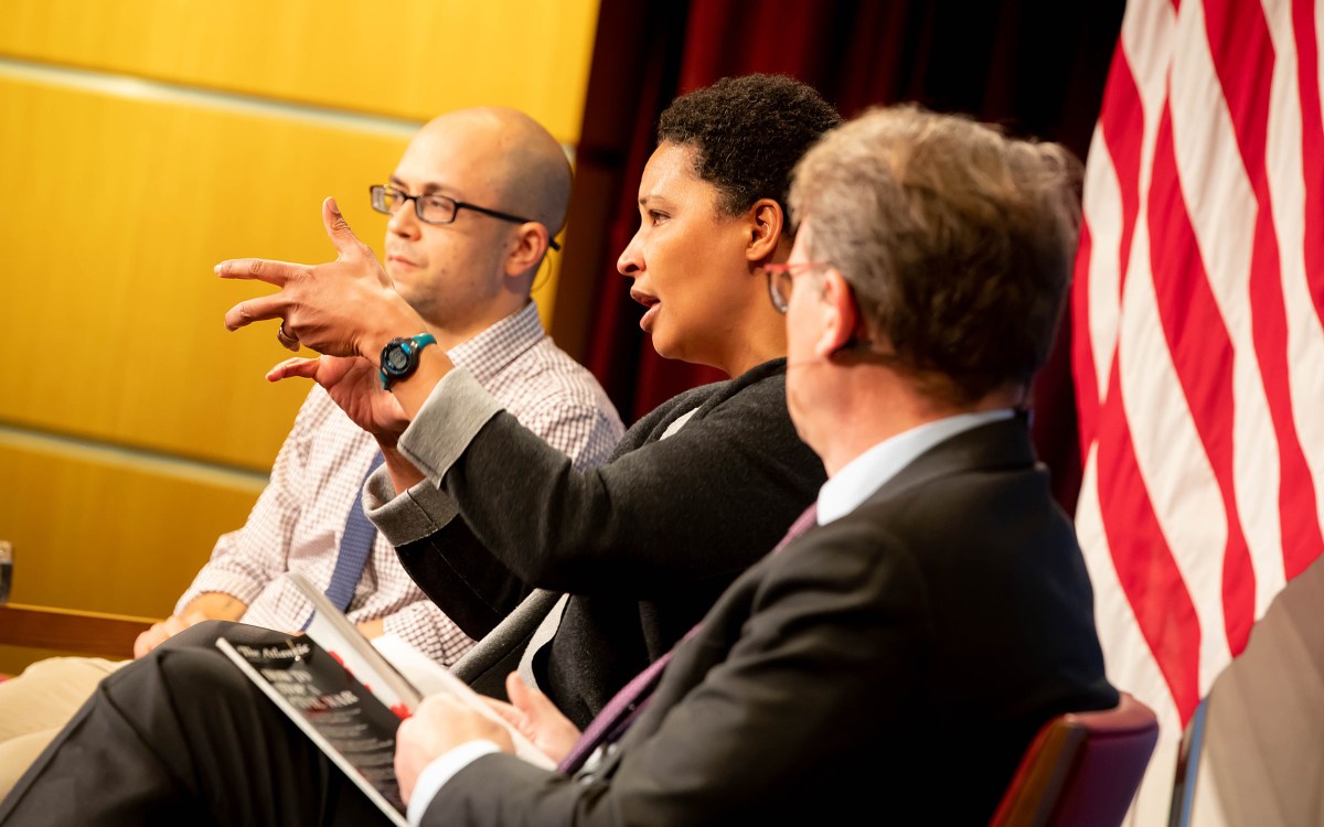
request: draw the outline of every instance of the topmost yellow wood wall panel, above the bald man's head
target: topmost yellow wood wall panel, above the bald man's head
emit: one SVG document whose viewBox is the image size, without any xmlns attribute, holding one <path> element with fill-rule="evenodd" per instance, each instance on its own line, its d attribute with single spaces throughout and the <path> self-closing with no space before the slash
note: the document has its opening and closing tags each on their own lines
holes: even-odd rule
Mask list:
<svg viewBox="0 0 1324 827">
<path fill-rule="evenodd" d="M 4 0 L 0 54 L 426 119 L 527 111 L 579 139 L 598 0 Z"/>
</svg>

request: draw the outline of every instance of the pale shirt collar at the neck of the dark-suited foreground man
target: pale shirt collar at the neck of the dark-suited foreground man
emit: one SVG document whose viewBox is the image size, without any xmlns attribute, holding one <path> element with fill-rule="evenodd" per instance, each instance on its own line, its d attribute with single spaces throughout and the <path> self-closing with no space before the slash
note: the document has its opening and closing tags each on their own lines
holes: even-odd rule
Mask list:
<svg viewBox="0 0 1324 827">
<path fill-rule="evenodd" d="M 859 508 L 883 483 L 902 472 L 924 451 L 972 427 L 1010 419 L 1010 409 L 957 414 L 883 439 L 837 471 L 818 490 L 818 524 L 826 525 Z"/>
</svg>

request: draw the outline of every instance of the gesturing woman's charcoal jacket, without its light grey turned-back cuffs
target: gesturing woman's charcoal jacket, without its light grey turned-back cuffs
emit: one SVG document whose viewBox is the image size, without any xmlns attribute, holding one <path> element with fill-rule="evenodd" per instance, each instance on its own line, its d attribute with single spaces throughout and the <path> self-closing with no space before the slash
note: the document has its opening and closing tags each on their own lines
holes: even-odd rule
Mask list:
<svg viewBox="0 0 1324 827">
<path fill-rule="evenodd" d="M 400 560 L 473 638 L 489 634 L 526 586 L 575 593 L 535 671 L 584 726 L 768 553 L 822 486 L 822 462 L 786 413 L 785 378 L 777 359 L 687 390 L 584 472 L 498 414 L 444 480 L 463 519 L 401 546 Z M 503 696 L 518 654 L 475 688 Z"/>
</svg>

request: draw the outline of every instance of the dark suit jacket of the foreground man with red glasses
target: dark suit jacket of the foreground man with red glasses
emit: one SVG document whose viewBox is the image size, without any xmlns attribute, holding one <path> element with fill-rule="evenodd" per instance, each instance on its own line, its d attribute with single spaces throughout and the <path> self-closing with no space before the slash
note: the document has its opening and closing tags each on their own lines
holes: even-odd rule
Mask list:
<svg viewBox="0 0 1324 827">
<path fill-rule="evenodd" d="M 486 756 L 425 823 L 986 823 L 1041 724 L 1116 701 L 1018 417 L 749 569 L 594 775 Z"/>
</svg>

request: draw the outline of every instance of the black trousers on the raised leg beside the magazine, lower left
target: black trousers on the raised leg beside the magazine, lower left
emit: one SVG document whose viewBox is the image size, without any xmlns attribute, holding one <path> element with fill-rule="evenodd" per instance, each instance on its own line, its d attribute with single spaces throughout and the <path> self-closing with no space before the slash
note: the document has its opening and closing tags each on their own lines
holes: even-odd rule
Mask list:
<svg viewBox="0 0 1324 827">
<path fill-rule="evenodd" d="M 0 824 L 391 822 L 214 646 L 283 640 L 211 622 L 101 683 L 0 802 Z"/>
</svg>

